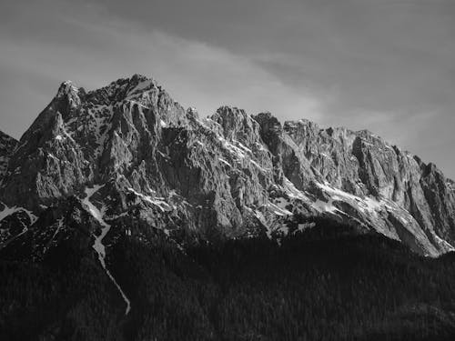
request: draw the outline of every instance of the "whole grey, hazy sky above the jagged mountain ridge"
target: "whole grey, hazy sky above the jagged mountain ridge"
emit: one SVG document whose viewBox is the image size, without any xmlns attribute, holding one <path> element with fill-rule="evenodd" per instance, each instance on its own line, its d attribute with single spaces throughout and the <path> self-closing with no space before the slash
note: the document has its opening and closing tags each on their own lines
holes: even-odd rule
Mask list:
<svg viewBox="0 0 455 341">
<path fill-rule="evenodd" d="M 455 0 L 1 0 L 0 130 L 72 80 L 368 129 L 455 178 Z"/>
</svg>

